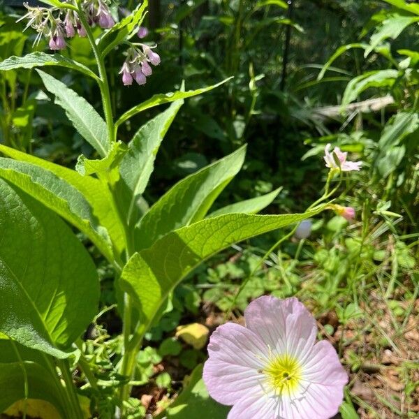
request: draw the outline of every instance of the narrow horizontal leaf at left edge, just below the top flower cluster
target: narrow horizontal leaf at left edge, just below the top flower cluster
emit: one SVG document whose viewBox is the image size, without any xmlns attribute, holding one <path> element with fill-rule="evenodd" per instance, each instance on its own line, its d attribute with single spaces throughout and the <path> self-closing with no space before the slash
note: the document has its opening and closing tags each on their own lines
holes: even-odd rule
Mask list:
<svg viewBox="0 0 419 419">
<path fill-rule="evenodd" d="M 70 58 L 63 57 L 60 54 L 45 54 L 45 52 L 31 52 L 24 57 L 9 57 L 0 63 L 0 71 L 16 70 L 17 68 L 34 68 L 44 66 L 66 67 L 71 70 L 80 71 L 95 80 L 98 76 L 83 64 L 73 61 Z"/>
</svg>

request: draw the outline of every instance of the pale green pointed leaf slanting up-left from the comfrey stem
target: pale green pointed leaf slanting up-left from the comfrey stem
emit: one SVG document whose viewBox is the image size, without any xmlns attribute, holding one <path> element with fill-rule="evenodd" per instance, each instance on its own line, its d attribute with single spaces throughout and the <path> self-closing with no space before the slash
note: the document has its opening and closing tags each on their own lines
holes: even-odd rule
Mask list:
<svg viewBox="0 0 419 419">
<path fill-rule="evenodd" d="M 110 142 L 108 128 L 102 117 L 86 99 L 69 89 L 66 84 L 41 70 L 37 71 L 47 90 L 55 95 L 55 103 L 64 108 L 75 129 L 98 154 L 105 157 L 110 152 Z"/>
</svg>

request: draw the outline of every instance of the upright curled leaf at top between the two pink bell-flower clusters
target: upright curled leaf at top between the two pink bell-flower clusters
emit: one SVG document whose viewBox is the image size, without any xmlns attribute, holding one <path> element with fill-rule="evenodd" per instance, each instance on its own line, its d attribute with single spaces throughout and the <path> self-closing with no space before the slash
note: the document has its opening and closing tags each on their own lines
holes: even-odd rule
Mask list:
<svg viewBox="0 0 419 419">
<path fill-rule="evenodd" d="M 128 41 L 128 39 L 135 35 L 135 31 L 145 17 L 147 6 L 148 0 L 142 1 L 142 3 L 133 10 L 131 15 L 124 17 L 121 22 L 118 22 L 103 34 L 98 43 L 98 49 L 101 51 L 102 57 L 109 54 L 109 52 L 122 43 L 122 41 Z"/>
</svg>

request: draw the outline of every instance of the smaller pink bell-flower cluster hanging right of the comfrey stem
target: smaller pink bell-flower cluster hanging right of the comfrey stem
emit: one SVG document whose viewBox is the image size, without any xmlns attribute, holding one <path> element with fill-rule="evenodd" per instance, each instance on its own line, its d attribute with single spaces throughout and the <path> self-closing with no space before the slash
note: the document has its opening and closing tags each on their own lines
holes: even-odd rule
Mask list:
<svg viewBox="0 0 419 419">
<path fill-rule="evenodd" d="M 152 75 L 153 66 L 158 66 L 160 64 L 160 56 L 152 50 L 152 47 L 149 45 L 140 44 L 141 49 L 137 47 L 131 47 L 127 52 L 127 58 L 122 65 L 121 71 L 119 74 L 122 74 L 122 82 L 125 86 L 131 86 L 133 81 L 137 84 L 145 84 L 147 82 L 147 77 Z"/>
</svg>

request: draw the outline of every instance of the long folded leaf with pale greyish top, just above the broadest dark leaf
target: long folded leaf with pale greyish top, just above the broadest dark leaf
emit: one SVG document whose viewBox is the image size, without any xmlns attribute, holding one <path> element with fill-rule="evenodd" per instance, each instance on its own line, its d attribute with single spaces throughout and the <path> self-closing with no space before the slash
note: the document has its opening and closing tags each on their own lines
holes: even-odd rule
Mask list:
<svg viewBox="0 0 419 419">
<path fill-rule="evenodd" d="M 25 161 L 0 158 L 0 177 L 7 179 L 86 234 L 108 260 L 112 245 L 82 193 L 54 173 Z"/>
</svg>

